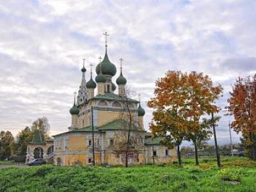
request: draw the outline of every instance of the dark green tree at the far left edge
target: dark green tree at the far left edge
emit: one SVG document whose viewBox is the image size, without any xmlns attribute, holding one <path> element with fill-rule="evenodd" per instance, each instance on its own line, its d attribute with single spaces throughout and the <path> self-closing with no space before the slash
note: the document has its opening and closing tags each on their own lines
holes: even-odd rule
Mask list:
<svg viewBox="0 0 256 192">
<path fill-rule="evenodd" d="M 11 145 L 14 141 L 12 132 L 1 131 L 0 132 L 0 159 L 10 159 L 12 155 Z"/>
</svg>

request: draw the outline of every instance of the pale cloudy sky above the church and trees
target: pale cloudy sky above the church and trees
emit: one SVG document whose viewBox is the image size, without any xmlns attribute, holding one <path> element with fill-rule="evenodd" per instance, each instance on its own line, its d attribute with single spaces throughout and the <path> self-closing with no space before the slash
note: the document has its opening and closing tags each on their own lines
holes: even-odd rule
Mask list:
<svg viewBox="0 0 256 192">
<path fill-rule="evenodd" d="M 1 1 L 0 130 L 17 134 L 46 116 L 51 135 L 67 131 L 83 58 L 88 79 L 89 64 L 104 56 L 105 31 L 118 70 L 114 82 L 123 58 L 127 85 L 141 94 L 146 129 L 147 100 L 168 70 L 203 72 L 220 83 L 223 116 L 236 78 L 256 72 L 255 10 L 254 0 Z M 228 120 L 223 116 L 217 128 L 220 143 L 229 142 Z M 232 138 L 238 142 L 239 134 Z"/>
</svg>

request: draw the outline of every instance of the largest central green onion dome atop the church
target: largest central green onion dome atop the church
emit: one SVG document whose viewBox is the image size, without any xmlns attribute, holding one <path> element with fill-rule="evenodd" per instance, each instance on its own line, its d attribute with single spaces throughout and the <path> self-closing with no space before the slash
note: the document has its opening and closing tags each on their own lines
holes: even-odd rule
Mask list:
<svg viewBox="0 0 256 192">
<path fill-rule="evenodd" d="M 109 61 L 108 54 L 106 52 L 103 61 L 101 61 L 101 70 L 103 75 L 115 76 L 116 67 L 111 61 Z M 100 73 L 100 63 L 96 67 L 96 73 Z"/>
</svg>

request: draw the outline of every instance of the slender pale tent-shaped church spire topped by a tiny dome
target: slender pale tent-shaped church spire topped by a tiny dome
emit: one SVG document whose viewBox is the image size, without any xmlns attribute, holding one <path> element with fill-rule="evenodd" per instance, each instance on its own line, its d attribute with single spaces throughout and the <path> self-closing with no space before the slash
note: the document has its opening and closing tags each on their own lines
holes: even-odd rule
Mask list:
<svg viewBox="0 0 256 192">
<path fill-rule="evenodd" d="M 83 60 L 83 68 L 81 68 L 81 72 L 83 73 L 81 85 L 79 86 L 79 91 L 77 95 L 77 105 L 81 105 L 88 100 L 88 90 L 86 88 L 86 80 L 85 80 L 85 72 L 86 68 L 84 68 L 84 60 Z"/>
</svg>

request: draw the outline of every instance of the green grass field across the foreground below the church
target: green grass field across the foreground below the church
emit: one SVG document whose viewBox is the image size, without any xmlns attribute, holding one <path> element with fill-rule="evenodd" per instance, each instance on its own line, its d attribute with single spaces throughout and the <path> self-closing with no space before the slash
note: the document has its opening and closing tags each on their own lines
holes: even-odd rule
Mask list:
<svg viewBox="0 0 256 192">
<path fill-rule="evenodd" d="M 256 191 L 256 162 L 244 157 L 184 160 L 183 166 L 57 167 L 0 170 L 0 191 Z M 232 180 L 230 182 L 230 180 Z"/>
</svg>

